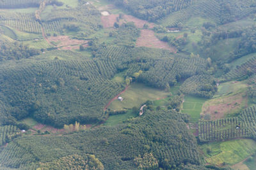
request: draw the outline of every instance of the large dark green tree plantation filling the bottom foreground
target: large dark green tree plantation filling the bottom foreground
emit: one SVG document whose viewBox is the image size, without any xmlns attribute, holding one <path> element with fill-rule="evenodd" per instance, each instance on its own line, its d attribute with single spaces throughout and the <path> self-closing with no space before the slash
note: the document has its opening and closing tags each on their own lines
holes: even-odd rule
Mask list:
<svg viewBox="0 0 256 170">
<path fill-rule="evenodd" d="M 143 166 L 152 165 L 152 161 L 155 166 L 166 167 L 179 166 L 182 162 L 199 165 L 195 137 L 189 133 L 184 119 L 186 115 L 173 111 L 147 110 L 143 117 L 118 127 L 100 127 L 65 136 L 26 136 L 15 139 L 4 148 L 0 153 L 0 164 L 24 167 L 29 162 L 41 162 L 47 167 L 67 160 L 72 166 L 72 162 L 80 158 L 77 155 L 90 153 L 99 158 L 104 169 L 136 169 L 141 162 L 139 155 L 144 155 L 144 163 L 148 162 Z M 24 152 L 24 149 L 28 151 Z M 168 161 L 164 162 L 165 159 Z"/>
</svg>

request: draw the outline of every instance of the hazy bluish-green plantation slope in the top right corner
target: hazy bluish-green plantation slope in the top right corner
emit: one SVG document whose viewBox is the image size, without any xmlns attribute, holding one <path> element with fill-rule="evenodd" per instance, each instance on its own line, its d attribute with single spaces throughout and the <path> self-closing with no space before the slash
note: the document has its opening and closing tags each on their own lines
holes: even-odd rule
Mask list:
<svg viewBox="0 0 256 170">
<path fill-rule="evenodd" d="M 216 1 L 202 0 L 196 1 L 188 8 L 174 12 L 173 15 L 157 20 L 160 24 L 166 27 L 177 27 L 179 24 L 185 24 L 193 16 L 200 15 L 209 17 L 218 24 L 226 24 L 234 20 L 243 19 L 255 13 L 256 8 L 252 2 L 248 1 Z"/>
</svg>

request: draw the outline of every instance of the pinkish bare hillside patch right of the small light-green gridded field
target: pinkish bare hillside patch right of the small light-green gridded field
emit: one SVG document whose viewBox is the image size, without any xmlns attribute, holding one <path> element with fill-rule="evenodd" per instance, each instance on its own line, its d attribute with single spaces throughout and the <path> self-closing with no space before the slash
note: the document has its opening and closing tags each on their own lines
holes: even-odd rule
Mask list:
<svg viewBox="0 0 256 170">
<path fill-rule="evenodd" d="M 239 111 L 243 107 L 242 102 L 247 102 L 246 97 L 242 97 L 242 94 L 240 93 L 232 97 L 215 98 L 205 102 L 201 115 L 204 117 L 205 114 L 210 114 L 211 120 L 217 120 L 224 118 L 228 113 Z"/>
</svg>

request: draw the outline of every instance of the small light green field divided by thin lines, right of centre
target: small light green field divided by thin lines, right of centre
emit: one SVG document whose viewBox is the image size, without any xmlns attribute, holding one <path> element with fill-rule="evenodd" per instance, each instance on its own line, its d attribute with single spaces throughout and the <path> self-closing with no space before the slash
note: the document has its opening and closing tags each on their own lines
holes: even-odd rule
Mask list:
<svg viewBox="0 0 256 170">
<path fill-rule="evenodd" d="M 185 96 L 182 112 L 191 116 L 191 122 L 196 122 L 200 119 L 200 112 L 202 111 L 202 106 L 206 100 L 206 98 Z"/>
</svg>

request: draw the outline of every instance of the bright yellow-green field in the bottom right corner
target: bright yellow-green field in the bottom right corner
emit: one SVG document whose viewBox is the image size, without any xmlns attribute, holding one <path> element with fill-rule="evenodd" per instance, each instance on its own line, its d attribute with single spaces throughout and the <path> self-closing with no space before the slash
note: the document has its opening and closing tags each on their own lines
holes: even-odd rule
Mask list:
<svg viewBox="0 0 256 170">
<path fill-rule="evenodd" d="M 252 139 L 235 139 L 204 144 L 202 150 L 207 164 L 221 166 L 225 162 L 225 164 L 233 165 L 255 153 L 256 142 Z"/>
</svg>

